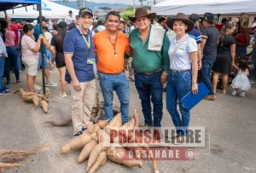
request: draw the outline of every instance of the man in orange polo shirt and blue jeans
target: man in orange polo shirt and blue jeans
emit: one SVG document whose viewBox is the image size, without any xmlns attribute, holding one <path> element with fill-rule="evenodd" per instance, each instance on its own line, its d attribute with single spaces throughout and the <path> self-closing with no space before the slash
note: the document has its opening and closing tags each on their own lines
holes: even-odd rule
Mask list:
<svg viewBox="0 0 256 173">
<path fill-rule="evenodd" d="M 104 98 L 106 119 L 113 118 L 113 90 L 119 96 L 122 121 L 129 121 L 130 85 L 125 77 L 125 55 L 131 56 L 128 37 L 118 31 L 120 15 L 110 11 L 106 16 L 106 30 L 94 35 L 97 70 Z"/>
</svg>

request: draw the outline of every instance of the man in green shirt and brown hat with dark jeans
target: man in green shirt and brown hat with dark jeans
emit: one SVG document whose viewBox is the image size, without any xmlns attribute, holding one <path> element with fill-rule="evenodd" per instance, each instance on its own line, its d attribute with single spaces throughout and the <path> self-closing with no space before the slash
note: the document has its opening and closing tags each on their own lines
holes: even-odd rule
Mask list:
<svg viewBox="0 0 256 173">
<path fill-rule="evenodd" d="M 135 12 L 135 17 L 129 17 L 129 20 L 136 23 L 137 28 L 129 34 L 130 45 L 132 49 L 132 67 L 135 73 L 135 86 L 142 100 L 144 125 L 161 126 L 163 98 L 163 84 L 167 81 L 167 72 L 170 61 L 168 49 L 170 41 L 165 34 L 160 43 L 160 51 L 149 50 L 149 38 L 152 36 L 153 28 L 150 25 L 156 14 L 148 14 L 146 10 L 140 8 Z M 161 30 L 163 30 L 161 28 Z M 157 38 L 156 38 L 157 39 Z M 151 102 L 153 102 L 153 116 Z"/>
</svg>

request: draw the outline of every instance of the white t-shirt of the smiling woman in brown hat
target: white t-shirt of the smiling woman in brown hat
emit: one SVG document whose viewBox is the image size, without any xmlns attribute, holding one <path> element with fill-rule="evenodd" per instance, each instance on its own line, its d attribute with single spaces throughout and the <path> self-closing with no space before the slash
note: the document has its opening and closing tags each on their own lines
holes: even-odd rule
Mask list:
<svg viewBox="0 0 256 173">
<path fill-rule="evenodd" d="M 186 34 L 188 35 L 188 34 Z M 186 36 L 185 35 L 185 36 Z M 185 37 L 184 36 L 184 37 Z M 176 41 L 177 37 L 173 37 L 170 43 L 170 47 L 168 50 L 168 55 L 171 61 L 171 55 L 172 51 L 176 48 L 178 41 Z M 183 38 L 181 38 L 182 40 Z M 195 42 L 195 39 L 192 37 L 189 37 L 186 41 L 183 42 L 182 45 L 177 49 L 173 59 L 172 63 L 170 65 L 170 68 L 172 70 L 188 70 L 191 68 L 191 61 L 189 57 L 189 53 L 191 52 L 197 52 L 197 44 Z"/>
</svg>

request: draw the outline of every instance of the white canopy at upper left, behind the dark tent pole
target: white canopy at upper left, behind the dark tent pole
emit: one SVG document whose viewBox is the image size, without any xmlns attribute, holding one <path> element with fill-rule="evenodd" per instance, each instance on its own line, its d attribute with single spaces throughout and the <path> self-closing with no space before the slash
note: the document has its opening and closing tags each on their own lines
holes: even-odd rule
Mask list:
<svg viewBox="0 0 256 173">
<path fill-rule="evenodd" d="M 42 14 L 44 17 L 48 19 L 65 19 L 68 15 L 68 11 L 72 10 L 73 15 L 78 15 L 78 9 L 72 9 L 58 3 L 52 3 L 48 0 L 42 0 Z M 27 11 L 26 11 L 27 9 Z M 18 9 L 7 10 L 7 14 L 11 18 L 37 18 L 39 16 L 39 12 L 37 11 L 37 5 L 30 5 Z M 0 18 L 4 18 L 3 12 L 0 12 Z"/>
</svg>

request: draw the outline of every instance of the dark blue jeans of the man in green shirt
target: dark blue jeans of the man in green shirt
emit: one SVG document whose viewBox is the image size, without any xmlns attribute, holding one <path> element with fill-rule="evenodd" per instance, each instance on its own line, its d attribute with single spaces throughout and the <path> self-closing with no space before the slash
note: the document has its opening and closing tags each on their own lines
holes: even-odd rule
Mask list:
<svg viewBox="0 0 256 173">
<path fill-rule="evenodd" d="M 162 71 L 146 75 L 137 72 L 135 77 L 135 86 L 142 101 L 144 121 L 146 125 L 154 124 L 155 127 L 161 126 L 163 116 L 163 84 L 160 82 Z M 153 102 L 153 117 L 151 101 Z"/>
</svg>

